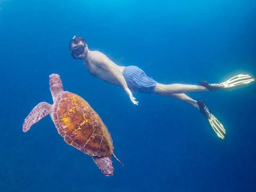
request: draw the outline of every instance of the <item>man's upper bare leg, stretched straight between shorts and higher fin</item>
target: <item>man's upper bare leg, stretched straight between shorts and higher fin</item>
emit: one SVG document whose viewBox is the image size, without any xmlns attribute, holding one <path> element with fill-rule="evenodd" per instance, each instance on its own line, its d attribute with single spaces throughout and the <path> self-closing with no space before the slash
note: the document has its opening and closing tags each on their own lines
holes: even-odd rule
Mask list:
<svg viewBox="0 0 256 192">
<path fill-rule="evenodd" d="M 209 91 L 207 88 L 199 85 L 190 85 L 190 84 L 162 84 L 156 83 L 155 93 L 159 95 L 170 96 L 172 93 L 186 93 L 192 91 Z"/>
</svg>

